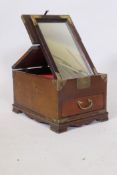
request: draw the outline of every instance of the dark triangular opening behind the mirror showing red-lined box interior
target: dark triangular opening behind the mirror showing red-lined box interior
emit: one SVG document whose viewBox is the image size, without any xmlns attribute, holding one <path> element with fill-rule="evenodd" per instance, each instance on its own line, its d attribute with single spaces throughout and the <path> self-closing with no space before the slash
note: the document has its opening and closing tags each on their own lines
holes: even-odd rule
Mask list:
<svg viewBox="0 0 117 175">
<path fill-rule="evenodd" d="M 16 63 L 15 69 L 47 78 L 54 77 L 40 47 L 34 47 L 25 54 L 21 61 L 18 64 Z"/>
</svg>

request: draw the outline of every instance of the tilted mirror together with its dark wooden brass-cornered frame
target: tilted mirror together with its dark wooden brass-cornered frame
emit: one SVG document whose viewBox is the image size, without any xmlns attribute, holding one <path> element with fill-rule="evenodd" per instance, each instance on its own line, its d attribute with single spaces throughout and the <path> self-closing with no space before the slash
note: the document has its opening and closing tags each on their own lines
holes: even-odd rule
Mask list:
<svg viewBox="0 0 117 175">
<path fill-rule="evenodd" d="M 22 15 L 33 44 L 40 44 L 56 78 L 73 79 L 97 71 L 68 15 Z"/>
</svg>

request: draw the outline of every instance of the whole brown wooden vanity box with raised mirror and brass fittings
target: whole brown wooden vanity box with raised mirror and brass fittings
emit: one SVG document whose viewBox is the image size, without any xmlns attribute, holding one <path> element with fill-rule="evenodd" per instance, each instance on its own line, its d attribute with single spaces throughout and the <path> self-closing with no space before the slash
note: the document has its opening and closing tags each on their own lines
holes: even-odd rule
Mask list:
<svg viewBox="0 0 117 175">
<path fill-rule="evenodd" d="M 96 71 L 68 15 L 22 15 L 33 46 L 13 65 L 13 111 L 55 132 L 108 119 L 107 75 Z"/>
</svg>

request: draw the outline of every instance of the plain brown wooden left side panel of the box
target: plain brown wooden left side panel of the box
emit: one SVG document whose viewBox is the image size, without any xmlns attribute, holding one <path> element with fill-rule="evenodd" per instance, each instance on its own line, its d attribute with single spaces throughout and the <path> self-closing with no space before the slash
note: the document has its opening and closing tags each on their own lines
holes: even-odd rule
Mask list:
<svg viewBox="0 0 117 175">
<path fill-rule="evenodd" d="M 58 92 L 51 79 L 13 71 L 14 104 L 54 119 L 58 117 Z"/>
</svg>

